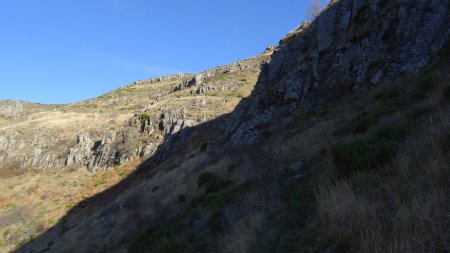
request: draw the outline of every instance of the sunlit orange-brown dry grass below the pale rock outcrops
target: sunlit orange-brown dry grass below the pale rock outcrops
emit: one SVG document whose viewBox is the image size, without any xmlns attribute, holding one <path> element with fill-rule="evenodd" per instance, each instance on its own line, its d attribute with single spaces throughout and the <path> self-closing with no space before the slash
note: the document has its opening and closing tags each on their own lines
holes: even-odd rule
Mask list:
<svg viewBox="0 0 450 253">
<path fill-rule="evenodd" d="M 0 252 L 39 236 L 82 200 L 120 182 L 137 164 L 97 173 L 59 170 L 0 179 Z"/>
</svg>

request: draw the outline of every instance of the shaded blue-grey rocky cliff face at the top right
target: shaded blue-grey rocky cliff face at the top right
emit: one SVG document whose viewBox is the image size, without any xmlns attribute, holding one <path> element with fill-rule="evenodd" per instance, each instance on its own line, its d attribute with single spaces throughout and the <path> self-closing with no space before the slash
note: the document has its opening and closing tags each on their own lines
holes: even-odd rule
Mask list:
<svg viewBox="0 0 450 253">
<path fill-rule="evenodd" d="M 251 142 L 276 115 L 288 122 L 295 108 L 429 64 L 450 37 L 449 7 L 449 1 L 331 1 L 315 22 L 280 41 L 254 99 L 226 132 L 234 144 Z"/>
</svg>

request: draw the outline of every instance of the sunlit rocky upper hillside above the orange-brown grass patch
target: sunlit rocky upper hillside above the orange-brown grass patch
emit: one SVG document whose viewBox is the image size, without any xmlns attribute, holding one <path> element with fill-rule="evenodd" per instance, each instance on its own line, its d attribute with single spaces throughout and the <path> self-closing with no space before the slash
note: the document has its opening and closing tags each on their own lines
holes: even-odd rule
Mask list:
<svg viewBox="0 0 450 253">
<path fill-rule="evenodd" d="M 0 166 L 17 172 L 104 170 L 145 160 L 171 135 L 230 112 L 248 95 L 269 55 L 197 75 L 137 81 L 76 104 L 2 102 Z"/>
</svg>

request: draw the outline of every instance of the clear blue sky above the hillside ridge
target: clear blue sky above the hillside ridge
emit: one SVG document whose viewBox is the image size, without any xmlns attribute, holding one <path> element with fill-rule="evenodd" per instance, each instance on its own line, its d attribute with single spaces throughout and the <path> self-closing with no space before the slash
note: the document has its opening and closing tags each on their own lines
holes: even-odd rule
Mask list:
<svg viewBox="0 0 450 253">
<path fill-rule="evenodd" d="M 254 56 L 309 0 L 5 0 L 0 99 L 68 103 Z"/>
</svg>

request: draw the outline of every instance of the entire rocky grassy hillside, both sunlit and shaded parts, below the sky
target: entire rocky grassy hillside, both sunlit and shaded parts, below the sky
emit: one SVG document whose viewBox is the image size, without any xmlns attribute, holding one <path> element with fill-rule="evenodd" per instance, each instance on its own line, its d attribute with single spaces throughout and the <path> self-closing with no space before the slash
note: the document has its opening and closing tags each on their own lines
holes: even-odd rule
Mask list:
<svg viewBox="0 0 450 253">
<path fill-rule="evenodd" d="M 3 179 L 1 247 L 448 252 L 449 13 L 335 0 L 273 53 L 78 104 L 8 102 L 0 158 L 28 173 Z"/>
</svg>

